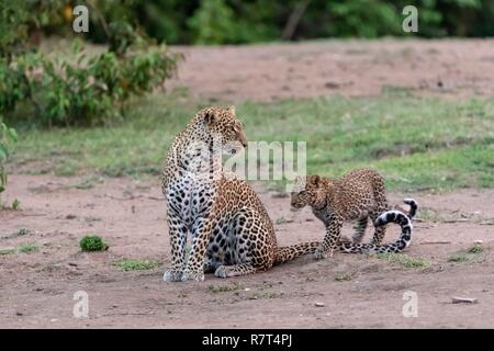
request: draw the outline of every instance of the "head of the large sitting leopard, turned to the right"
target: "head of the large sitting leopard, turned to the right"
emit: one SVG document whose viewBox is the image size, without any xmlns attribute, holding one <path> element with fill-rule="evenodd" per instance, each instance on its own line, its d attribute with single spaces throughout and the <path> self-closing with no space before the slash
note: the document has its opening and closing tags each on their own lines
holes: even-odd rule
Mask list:
<svg viewBox="0 0 494 351">
<path fill-rule="evenodd" d="M 223 149 L 228 154 L 235 154 L 238 149 L 247 147 L 242 122 L 235 116 L 235 106 L 207 107 L 199 113 L 199 117 L 207 136 L 221 141 Z"/>
</svg>

